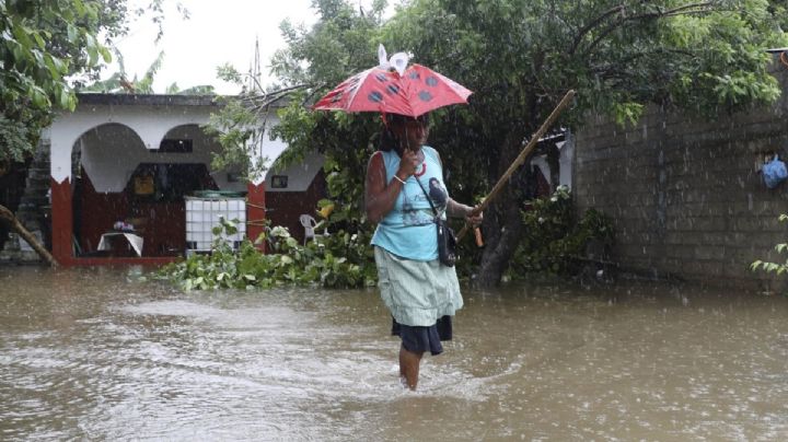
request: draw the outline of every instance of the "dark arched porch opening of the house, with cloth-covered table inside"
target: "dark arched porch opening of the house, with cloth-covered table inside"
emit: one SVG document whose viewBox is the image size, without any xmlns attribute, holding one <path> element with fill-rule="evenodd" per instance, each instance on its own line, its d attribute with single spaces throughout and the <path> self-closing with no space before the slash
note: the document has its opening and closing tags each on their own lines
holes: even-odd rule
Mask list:
<svg viewBox="0 0 788 442">
<path fill-rule="evenodd" d="M 147 149 L 132 129 L 117 123 L 85 131 L 72 149 L 74 254 L 182 256 L 185 198 L 201 190 L 246 191 L 237 174 L 211 171 L 218 150 L 196 124 L 171 128 L 157 149 Z"/>
</svg>

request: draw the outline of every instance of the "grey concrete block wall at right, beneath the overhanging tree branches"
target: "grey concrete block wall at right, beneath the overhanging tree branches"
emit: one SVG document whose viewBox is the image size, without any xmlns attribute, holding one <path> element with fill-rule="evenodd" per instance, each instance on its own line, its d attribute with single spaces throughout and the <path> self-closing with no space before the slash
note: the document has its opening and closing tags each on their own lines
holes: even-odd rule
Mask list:
<svg viewBox="0 0 788 442">
<path fill-rule="evenodd" d="M 746 290 L 783 286 L 749 266 L 779 260 L 773 247 L 788 241 L 777 219 L 788 212 L 788 183 L 768 189 L 760 173 L 767 154 L 788 160 L 787 111 L 784 96 L 712 123 L 657 107 L 635 127 L 591 117 L 575 137 L 578 208 L 613 219 L 613 258 L 626 268 Z"/>
</svg>

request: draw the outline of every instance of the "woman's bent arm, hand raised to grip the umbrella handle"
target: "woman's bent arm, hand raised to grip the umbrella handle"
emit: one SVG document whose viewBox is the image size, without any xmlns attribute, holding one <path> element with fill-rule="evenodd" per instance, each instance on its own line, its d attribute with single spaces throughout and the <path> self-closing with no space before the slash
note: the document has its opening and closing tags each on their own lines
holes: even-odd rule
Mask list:
<svg viewBox="0 0 788 442">
<path fill-rule="evenodd" d="M 399 190 L 405 185 L 403 182 L 416 171 L 416 154 L 405 150 L 396 177 L 386 183 L 383 154 L 381 152 L 372 154 L 367 165 L 367 183 L 364 185 L 364 210 L 370 221 L 380 222 L 394 208 Z"/>
</svg>

